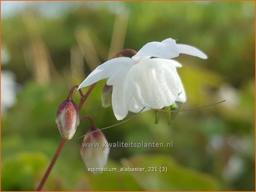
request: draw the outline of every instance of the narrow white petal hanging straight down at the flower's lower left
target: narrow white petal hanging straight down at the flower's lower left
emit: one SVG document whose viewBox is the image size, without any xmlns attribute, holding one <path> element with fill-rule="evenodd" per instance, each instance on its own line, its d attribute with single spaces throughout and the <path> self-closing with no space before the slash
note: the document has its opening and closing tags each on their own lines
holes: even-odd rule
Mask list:
<svg viewBox="0 0 256 192">
<path fill-rule="evenodd" d="M 111 76 L 107 85 L 112 85 L 112 109 L 117 120 L 124 119 L 128 114 L 129 102 L 132 99 L 132 94 L 127 93 L 127 73 L 131 66 L 126 66 L 122 71 Z"/>
</svg>

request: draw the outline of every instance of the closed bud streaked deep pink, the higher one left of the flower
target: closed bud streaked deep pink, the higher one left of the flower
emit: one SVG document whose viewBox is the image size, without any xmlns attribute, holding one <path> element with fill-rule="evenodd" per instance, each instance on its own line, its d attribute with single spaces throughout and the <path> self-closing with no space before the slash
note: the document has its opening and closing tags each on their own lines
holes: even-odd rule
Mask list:
<svg viewBox="0 0 256 192">
<path fill-rule="evenodd" d="M 79 125 L 79 110 L 73 101 L 64 101 L 57 110 L 56 121 L 60 135 L 72 139 Z"/>
</svg>

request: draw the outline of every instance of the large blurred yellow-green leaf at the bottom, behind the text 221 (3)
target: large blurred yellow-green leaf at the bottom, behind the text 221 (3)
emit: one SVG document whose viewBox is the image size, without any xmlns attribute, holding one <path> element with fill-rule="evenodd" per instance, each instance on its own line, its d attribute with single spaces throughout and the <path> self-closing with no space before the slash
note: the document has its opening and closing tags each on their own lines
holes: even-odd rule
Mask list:
<svg viewBox="0 0 256 192">
<path fill-rule="evenodd" d="M 215 191 L 219 189 L 218 182 L 214 178 L 183 168 L 168 156 L 136 156 L 123 160 L 122 163 L 127 167 L 150 170 L 147 173 L 131 172 L 145 191 Z"/>
</svg>

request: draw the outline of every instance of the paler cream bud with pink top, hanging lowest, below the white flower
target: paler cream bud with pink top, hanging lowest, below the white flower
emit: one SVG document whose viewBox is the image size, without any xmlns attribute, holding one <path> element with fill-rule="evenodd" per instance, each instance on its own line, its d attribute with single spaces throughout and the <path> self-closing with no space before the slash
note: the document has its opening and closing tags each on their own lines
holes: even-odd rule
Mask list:
<svg viewBox="0 0 256 192">
<path fill-rule="evenodd" d="M 81 147 L 81 156 L 86 167 L 104 168 L 108 161 L 109 150 L 110 147 L 103 132 L 96 127 L 91 127 L 84 136 Z M 93 173 L 98 172 L 100 171 L 93 171 Z"/>
</svg>

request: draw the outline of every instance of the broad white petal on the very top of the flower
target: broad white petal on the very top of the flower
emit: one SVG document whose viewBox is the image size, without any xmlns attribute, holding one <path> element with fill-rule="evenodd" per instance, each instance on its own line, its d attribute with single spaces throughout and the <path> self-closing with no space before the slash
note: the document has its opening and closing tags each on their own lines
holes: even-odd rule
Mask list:
<svg viewBox="0 0 256 192">
<path fill-rule="evenodd" d="M 169 38 L 162 42 L 151 42 L 144 45 L 134 57 L 151 56 L 163 59 L 171 59 L 179 56 L 175 40 Z M 133 57 L 132 57 L 133 58 Z"/>
</svg>

